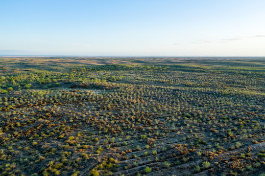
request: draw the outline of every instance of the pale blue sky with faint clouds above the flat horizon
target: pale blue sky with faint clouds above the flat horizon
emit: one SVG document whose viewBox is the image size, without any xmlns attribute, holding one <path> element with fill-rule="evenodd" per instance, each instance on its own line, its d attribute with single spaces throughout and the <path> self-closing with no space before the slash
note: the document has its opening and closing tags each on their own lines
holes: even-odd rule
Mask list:
<svg viewBox="0 0 265 176">
<path fill-rule="evenodd" d="M 265 56 L 265 0 L 0 0 L 0 55 Z"/>
</svg>

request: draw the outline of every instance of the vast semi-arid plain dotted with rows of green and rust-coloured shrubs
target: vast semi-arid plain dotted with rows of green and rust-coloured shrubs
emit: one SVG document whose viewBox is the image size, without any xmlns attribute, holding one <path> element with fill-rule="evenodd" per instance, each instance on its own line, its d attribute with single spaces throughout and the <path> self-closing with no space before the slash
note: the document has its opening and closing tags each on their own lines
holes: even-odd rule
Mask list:
<svg viewBox="0 0 265 176">
<path fill-rule="evenodd" d="M 265 58 L 1 57 L 0 175 L 265 176 Z"/>
</svg>

